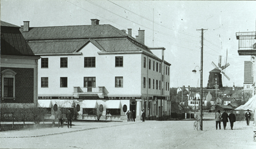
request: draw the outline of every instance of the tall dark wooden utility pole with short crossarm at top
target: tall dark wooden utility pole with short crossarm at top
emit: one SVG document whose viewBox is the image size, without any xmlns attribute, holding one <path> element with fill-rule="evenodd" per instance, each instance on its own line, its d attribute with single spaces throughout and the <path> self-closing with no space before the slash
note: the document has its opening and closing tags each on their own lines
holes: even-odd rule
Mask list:
<svg viewBox="0 0 256 149">
<path fill-rule="evenodd" d="M 203 58 L 204 58 L 204 30 L 208 29 L 196 29 L 196 31 L 201 31 L 201 70 L 200 70 L 200 88 L 201 88 L 201 98 L 200 98 L 200 130 L 203 130 Z"/>
</svg>

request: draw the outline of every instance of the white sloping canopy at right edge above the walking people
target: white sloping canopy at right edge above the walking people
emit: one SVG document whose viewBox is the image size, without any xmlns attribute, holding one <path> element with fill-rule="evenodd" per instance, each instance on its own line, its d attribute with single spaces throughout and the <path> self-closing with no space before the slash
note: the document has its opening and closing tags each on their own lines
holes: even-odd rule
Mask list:
<svg viewBox="0 0 256 149">
<path fill-rule="evenodd" d="M 256 95 L 248 100 L 244 105 L 237 107 L 235 110 L 250 110 L 253 111 L 254 125 L 256 125 Z"/>
</svg>

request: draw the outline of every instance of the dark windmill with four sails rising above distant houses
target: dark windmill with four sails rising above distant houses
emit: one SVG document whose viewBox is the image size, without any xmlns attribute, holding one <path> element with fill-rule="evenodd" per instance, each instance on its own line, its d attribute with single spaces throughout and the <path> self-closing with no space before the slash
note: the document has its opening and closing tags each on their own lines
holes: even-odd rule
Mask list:
<svg viewBox="0 0 256 149">
<path fill-rule="evenodd" d="M 230 64 L 227 63 L 226 65 L 223 65 L 221 67 L 221 56 L 219 56 L 218 67 L 217 67 L 217 65 L 215 65 L 213 63 L 213 61 L 212 61 L 212 65 L 214 66 L 214 69 L 211 70 L 211 72 L 209 72 L 210 74 L 209 74 L 207 88 L 209 88 L 209 89 L 216 88 L 215 87 L 216 82 L 217 82 L 218 88 L 223 88 L 221 74 L 223 74 L 225 77 L 227 77 L 228 81 L 230 80 L 230 78 L 223 72 L 223 70 L 225 70 L 225 68 L 227 68 Z"/>
</svg>

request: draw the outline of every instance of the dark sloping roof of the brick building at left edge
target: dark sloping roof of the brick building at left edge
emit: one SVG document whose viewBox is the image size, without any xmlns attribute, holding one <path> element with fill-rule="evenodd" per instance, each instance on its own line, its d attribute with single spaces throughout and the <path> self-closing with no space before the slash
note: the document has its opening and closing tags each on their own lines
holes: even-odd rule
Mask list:
<svg viewBox="0 0 256 149">
<path fill-rule="evenodd" d="M 34 56 L 19 26 L 1 21 L 1 55 Z"/>
</svg>

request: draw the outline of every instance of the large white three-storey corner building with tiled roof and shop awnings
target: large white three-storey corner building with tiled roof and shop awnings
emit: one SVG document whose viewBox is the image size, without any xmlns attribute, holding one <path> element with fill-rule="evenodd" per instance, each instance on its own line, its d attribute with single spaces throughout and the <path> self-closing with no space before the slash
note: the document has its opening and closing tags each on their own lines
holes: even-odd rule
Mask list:
<svg viewBox="0 0 256 149">
<path fill-rule="evenodd" d="M 136 38 L 109 24 L 29 27 L 20 32 L 38 61 L 38 103 L 72 108 L 77 119 L 124 120 L 170 115 L 170 63 L 164 47 L 147 47 L 145 31 Z M 56 109 L 55 109 L 56 110 Z M 54 111 L 51 110 L 51 114 Z"/>
</svg>

